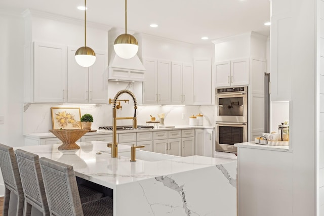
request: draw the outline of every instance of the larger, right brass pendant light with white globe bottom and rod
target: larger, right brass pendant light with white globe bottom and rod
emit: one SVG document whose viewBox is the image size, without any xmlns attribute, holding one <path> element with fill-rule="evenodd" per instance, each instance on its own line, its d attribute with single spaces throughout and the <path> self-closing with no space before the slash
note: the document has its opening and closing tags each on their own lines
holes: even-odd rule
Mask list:
<svg viewBox="0 0 324 216">
<path fill-rule="evenodd" d="M 127 0 L 125 0 L 125 34 L 120 34 L 114 41 L 115 53 L 123 59 L 134 57 L 138 51 L 137 39 L 127 33 Z"/>
</svg>

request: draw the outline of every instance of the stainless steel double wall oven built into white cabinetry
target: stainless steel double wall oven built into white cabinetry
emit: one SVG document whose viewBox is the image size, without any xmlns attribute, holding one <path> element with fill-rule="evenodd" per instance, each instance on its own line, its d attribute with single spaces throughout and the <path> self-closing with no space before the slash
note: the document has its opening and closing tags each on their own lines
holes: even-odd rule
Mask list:
<svg viewBox="0 0 324 216">
<path fill-rule="evenodd" d="M 216 151 L 237 153 L 248 140 L 248 87 L 216 89 Z"/>
</svg>

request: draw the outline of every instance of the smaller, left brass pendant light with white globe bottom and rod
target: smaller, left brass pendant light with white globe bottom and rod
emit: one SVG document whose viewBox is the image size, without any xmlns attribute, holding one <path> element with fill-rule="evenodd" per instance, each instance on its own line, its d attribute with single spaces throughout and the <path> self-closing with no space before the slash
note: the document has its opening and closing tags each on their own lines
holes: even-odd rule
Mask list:
<svg viewBox="0 0 324 216">
<path fill-rule="evenodd" d="M 93 49 L 87 47 L 87 0 L 85 0 L 85 46 L 75 52 L 75 61 L 82 67 L 90 67 L 96 61 L 96 54 Z"/>
</svg>

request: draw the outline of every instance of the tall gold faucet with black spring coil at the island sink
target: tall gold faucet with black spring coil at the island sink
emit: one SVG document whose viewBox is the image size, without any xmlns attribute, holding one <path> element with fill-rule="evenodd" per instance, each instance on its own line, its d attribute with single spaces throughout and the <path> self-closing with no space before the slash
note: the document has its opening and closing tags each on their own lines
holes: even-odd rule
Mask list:
<svg viewBox="0 0 324 216">
<path fill-rule="evenodd" d="M 133 117 L 116 117 L 116 101 L 121 94 L 129 94 L 133 101 L 134 101 L 134 116 Z M 113 99 L 112 103 L 112 143 L 108 143 L 107 147 L 111 147 L 111 157 L 118 156 L 118 143 L 117 143 L 117 120 L 118 119 L 133 119 L 133 129 L 137 129 L 137 119 L 136 119 L 136 109 L 137 109 L 137 102 L 135 95 L 129 90 L 120 90 L 117 92 Z"/>
</svg>

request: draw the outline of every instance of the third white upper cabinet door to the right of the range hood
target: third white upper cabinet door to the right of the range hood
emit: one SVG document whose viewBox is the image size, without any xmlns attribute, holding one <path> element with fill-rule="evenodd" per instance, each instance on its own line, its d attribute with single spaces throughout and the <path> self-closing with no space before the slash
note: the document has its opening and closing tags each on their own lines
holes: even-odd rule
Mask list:
<svg viewBox="0 0 324 216">
<path fill-rule="evenodd" d="M 172 62 L 171 64 L 171 104 L 182 104 L 182 63 Z"/>
</svg>

